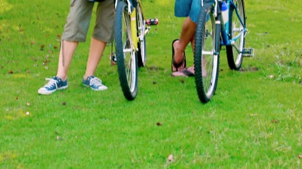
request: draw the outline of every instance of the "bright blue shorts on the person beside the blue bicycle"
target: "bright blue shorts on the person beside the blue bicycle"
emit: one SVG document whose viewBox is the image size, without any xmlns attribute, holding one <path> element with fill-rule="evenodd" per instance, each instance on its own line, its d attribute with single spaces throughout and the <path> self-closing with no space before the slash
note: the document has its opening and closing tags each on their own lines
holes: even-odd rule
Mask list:
<svg viewBox="0 0 302 169">
<path fill-rule="evenodd" d="M 176 17 L 187 17 L 195 23 L 201 8 L 201 0 L 175 0 L 174 14 Z"/>
</svg>

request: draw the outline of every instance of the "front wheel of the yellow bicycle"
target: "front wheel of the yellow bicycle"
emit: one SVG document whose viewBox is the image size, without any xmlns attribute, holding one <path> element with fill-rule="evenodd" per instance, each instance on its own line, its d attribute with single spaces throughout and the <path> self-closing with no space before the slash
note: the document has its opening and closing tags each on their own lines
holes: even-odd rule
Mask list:
<svg viewBox="0 0 302 169">
<path fill-rule="evenodd" d="M 115 50 L 121 87 L 128 100 L 135 99 L 138 89 L 137 52 L 131 42 L 127 4 L 119 1 L 115 13 Z"/>
</svg>

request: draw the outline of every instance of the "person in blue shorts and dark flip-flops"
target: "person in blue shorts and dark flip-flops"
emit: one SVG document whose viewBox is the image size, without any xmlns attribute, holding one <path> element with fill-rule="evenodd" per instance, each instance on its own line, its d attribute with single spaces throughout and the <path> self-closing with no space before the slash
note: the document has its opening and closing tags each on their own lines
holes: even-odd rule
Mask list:
<svg viewBox="0 0 302 169">
<path fill-rule="evenodd" d="M 201 0 L 175 0 L 174 14 L 176 17 L 186 17 L 179 39 L 172 42 L 172 76 L 194 76 L 194 66 L 186 68 L 185 49 L 189 42 L 194 51 L 194 37 L 198 21 Z"/>
</svg>

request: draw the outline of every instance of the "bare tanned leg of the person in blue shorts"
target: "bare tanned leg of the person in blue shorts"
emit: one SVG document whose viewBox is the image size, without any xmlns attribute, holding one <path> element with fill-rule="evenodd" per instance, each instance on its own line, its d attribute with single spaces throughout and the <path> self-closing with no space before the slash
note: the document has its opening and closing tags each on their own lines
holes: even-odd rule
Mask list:
<svg viewBox="0 0 302 169">
<path fill-rule="evenodd" d="M 175 50 L 175 61 L 180 63 L 182 60 L 183 52 L 186 49 L 186 46 L 189 42 L 192 42 L 195 35 L 196 23 L 191 20 L 190 17 L 187 17 L 182 25 L 181 34 L 179 41 L 174 42 L 173 47 Z M 173 71 L 176 71 L 175 67 L 172 67 Z M 178 71 L 184 69 L 184 65 L 178 68 Z"/>
</svg>

